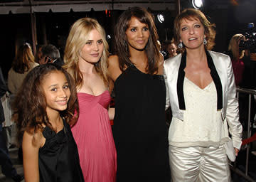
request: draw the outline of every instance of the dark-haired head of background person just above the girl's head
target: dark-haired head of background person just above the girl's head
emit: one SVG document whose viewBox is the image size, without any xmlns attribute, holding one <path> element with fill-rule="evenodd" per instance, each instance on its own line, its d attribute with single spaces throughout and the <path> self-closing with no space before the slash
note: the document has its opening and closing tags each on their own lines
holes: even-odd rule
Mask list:
<svg viewBox="0 0 256 182">
<path fill-rule="evenodd" d="M 39 60 L 40 65 L 53 63 L 62 66 L 64 64 L 63 60 L 60 58 L 60 51 L 52 44 L 43 45 L 41 53 L 41 59 Z"/>
</svg>

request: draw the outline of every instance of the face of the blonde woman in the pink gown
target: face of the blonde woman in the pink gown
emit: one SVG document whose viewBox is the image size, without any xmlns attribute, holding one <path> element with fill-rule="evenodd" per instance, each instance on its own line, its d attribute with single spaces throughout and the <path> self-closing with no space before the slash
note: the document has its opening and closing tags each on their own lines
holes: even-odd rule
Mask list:
<svg viewBox="0 0 256 182">
<path fill-rule="evenodd" d="M 100 33 L 93 29 L 88 35 L 88 40 L 80 51 L 80 63 L 97 63 L 103 53 L 104 45 Z"/>
</svg>

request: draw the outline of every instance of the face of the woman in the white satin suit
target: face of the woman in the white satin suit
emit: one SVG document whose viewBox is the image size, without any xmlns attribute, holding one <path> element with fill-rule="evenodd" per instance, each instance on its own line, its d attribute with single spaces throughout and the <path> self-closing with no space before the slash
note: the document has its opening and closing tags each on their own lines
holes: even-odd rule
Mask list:
<svg viewBox="0 0 256 182">
<path fill-rule="evenodd" d="M 187 19 L 181 21 L 180 26 L 181 42 L 186 49 L 204 48 L 203 38 L 205 38 L 204 28 L 198 18 Z"/>
</svg>

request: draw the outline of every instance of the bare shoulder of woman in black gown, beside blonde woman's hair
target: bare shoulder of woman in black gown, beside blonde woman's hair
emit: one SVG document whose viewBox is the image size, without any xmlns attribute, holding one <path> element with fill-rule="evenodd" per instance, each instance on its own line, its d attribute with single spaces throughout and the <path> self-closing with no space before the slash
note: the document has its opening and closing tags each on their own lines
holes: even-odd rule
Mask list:
<svg viewBox="0 0 256 182">
<path fill-rule="evenodd" d="M 119 68 L 119 60 L 117 55 L 111 55 L 108 58 L 108 70 L 110 73 L 110 77 L 112 78 L 113 81 L 119 77 L 119 75 L 122 73 L 122 71 Z"/>
</svg>

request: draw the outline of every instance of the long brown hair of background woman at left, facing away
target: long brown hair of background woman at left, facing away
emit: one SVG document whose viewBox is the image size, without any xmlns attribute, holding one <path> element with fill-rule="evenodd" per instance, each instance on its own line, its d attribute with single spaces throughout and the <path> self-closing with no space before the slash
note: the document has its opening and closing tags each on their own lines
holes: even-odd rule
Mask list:
<svg viewBox="0 0 256 182">
<path fill-rule="evenodd" d="M 23 74 L 30 69 L 29 63 L 33 63 L 34 60 L 31 46 L 28 43 L 24 43 L 18 48 L 12 68 L 16 73 Z"/>
</svg>

